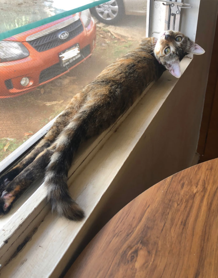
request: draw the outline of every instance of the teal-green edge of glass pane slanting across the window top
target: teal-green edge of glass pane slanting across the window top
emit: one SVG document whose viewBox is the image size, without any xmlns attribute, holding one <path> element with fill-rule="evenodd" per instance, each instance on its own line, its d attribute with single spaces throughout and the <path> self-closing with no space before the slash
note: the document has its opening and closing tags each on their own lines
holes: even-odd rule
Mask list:
<svg viewBox="0 0 218 278">
<path fill-rule="evenodd" d="M 47 17 L 45 19 L 41 19 L 39 21 L 32 22 L 32 23 L 29 23 L 29 24 L 21 26 L 21 27 L 17 27 L 15 29 L 8 30 L 8 31 L 3 32 L 3 33 L 0 34 L 0 40 L 7 39 L 9 37 L 12 37 L 12 36 L 20 34 L 22 32 L 31 30 L 31 29 L 36 28 L 36 27 L 40 27 L 42 25 L 45 25 L 47 23 L 50 23 L 50 22 L 53 22 L 55 20 L 61 19 L 63 17 L 70 16 L 71 14 L 74 14 L 76 12 L 82 12 L 86 9 L 90 9 L 92 7 L 95 7 L 95 6 L 100 5 L 102 3 L 105 3 L 105 2 L 108 2 L 108 0 L 98 0 L 98 1 L 86 4 L 84 6 L 75 8 L 73 10 L 69 10 L 67 12 L 61 12 L 58 15 L 50 16 L 50 17 Z"/>
</svg>

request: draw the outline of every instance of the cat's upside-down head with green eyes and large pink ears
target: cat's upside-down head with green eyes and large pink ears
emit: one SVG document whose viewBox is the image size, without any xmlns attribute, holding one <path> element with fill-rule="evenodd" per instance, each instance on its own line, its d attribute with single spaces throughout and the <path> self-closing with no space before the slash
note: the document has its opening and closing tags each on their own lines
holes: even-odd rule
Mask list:
<svg viewBox="0 0 218 278">
<path fill-rule="evenodd" d="M 179 78 L 181 76 L 180 61 L 186 54 L 201 55 L 204 49 L 195 44 L 181 32 L 165 31 L 157 40 L 154 48 L 155 58 L 169 72 Z"/>
</svg>

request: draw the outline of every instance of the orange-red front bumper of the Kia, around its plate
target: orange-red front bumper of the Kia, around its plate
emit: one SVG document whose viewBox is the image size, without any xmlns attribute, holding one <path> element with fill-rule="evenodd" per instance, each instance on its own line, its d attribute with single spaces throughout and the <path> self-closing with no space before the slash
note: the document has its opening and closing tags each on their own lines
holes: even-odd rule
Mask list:
<svg viewBox="0 0 218 278">
<path fill-rule="evenodd" d="M 76 67 L 87 59 L 95 47 L 96 26 L 91 20 L 90 25 L 83 32 L 55 48 L 37 52 L 30 44 L 24 43 L 30 55 L 27 58 L 0 63 L 0 98 L 14 97 L 27 93 L 39 85 L 43 85 Z M 59 53 L 79 44 L 81 56 L 63 67 Z M 23 77 L 29 78 L 27 86 L 21 85 Z"/>
</svg>

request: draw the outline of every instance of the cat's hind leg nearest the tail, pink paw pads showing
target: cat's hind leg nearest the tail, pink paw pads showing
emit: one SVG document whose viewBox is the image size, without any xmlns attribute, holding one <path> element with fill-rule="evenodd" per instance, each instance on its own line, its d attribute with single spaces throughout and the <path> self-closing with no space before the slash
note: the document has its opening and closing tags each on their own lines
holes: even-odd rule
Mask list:
<svg viewBox="0 0 218 278">
<path fill-rule="evenodd" d="M 45 168 L 50 161 L 51 155 L 55 151 L 55 147 L 56 145 L 53 144 L 42 151 L 20 174 L 11 182 L 6 183 L 0 198 L 0 214 L 7 213 L 17 197 L 19 197 L 36 178 L 40 177 L 40 175 L 45 172 Z"/>
</svg>

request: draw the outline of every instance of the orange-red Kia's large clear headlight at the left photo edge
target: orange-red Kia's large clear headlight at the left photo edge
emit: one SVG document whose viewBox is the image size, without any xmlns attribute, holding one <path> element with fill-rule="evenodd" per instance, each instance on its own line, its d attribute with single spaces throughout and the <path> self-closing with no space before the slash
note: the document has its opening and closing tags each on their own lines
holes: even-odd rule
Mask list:
<svg viewBox="0 0 218 278">
<path fill-rule="evenodd" d="M 16 41 L 0 41 L 0 62 L 15 61 L 30 55 L 28 49 Z"/>
</svg>

